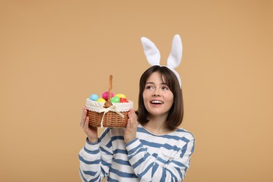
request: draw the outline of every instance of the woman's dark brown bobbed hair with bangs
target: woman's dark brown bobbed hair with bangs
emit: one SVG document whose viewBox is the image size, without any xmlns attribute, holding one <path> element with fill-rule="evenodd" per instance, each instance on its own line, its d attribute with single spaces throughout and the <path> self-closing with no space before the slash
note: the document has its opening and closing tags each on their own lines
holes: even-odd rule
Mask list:
<svg viewBox="0 0 273 182">
<path fill-rule="evenodd" d="M 181 125 L 183 120 L 183 96 L 182 90 L 179 85 L 179 80 L 177 80 L 174 72 L 168 69 L 166 66 L 151 66 L 147 69 L 141 76 L 139 80 L 139 109 L 137 111 L 138 120 L 141 125 L 148 123 L 148 111 L 144 106 L 143 92 L 145 89 L 146 81 L 151 76 L 152 73 L 158 71 L 162 78 L 164 78 L 169 89 L 174 94 L 174 103 L 172 104 L 169 114 L 167 116 L 166 124 L 173 130 Z M 162 79 L 163 80 L 163 79 Z"/>
</svg>

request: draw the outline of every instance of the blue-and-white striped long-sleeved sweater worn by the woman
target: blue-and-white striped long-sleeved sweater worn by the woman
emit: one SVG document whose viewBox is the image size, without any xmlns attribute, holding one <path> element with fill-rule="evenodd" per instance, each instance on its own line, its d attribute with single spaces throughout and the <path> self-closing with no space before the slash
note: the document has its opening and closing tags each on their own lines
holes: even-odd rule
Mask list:
<svg viewBox="0 0 273 182">
<path fill-rule="evenodd" d="M 178 129 L 155 135 L 137 128 L 125 144 L 125 129 L 106 128 L 95 144 L 85 141 L 78 155 L 82 181 L 183 181 L 195 146 L 193 134 Z"/>
</svg>

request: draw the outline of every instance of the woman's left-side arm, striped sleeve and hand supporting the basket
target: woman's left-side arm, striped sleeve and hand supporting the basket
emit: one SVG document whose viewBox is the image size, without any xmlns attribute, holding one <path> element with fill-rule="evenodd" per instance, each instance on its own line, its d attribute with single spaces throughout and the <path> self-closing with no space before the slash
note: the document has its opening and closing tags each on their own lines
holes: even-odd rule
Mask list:
<svg viewBox="0 0 273 182">
<path fill-rule="evenodd" d="M 83 181 L 101 181 L 108 176 L 109 166 L 111 165 L 113 153 L 111 136 L 109 129 L 104 130 L 101 137 L 97 138 L 97 128 L 89 126 L 87 111 L 83 108 L 83 116 L 80 122 L 87 139 L 85 146 L 80 150 L 78 158 L 80 160 L 80 178 Z"/>
</svg>

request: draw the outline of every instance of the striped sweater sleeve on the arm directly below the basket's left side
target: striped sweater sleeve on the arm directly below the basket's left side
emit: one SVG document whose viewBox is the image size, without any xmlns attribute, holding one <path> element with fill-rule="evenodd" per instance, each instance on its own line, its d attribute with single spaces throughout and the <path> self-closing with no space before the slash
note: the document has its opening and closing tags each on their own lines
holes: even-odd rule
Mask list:
<svg viewBox="0 0 273 182">
<path fill-rule="evenodd" d="M 86 139 L 85 146 L 80 150 L 78 158 L 82 181 L 101 181 L 108 176 L 113 160 L 109 129 L 104 130 L 97 143 L 92 144 Z"/>
</svg>

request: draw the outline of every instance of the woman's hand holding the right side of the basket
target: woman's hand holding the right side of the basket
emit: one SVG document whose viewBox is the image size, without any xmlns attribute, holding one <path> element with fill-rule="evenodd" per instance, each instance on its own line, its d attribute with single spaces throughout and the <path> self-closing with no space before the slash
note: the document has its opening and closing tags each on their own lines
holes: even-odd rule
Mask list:
<svg viewBox="0 0 273 182">
<path fill-rule="evenodd" d="M 130 109 L 128 116 L 129 119 L 124 133 L 124 141 L 126 144 L 137 138 L 137 115 L 133 109 Z"/>
</svg>

